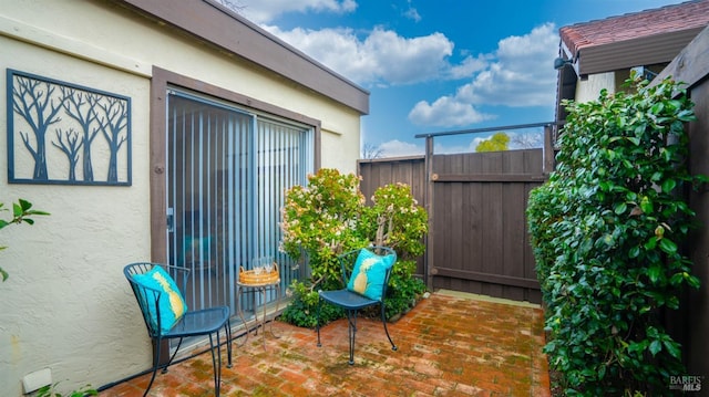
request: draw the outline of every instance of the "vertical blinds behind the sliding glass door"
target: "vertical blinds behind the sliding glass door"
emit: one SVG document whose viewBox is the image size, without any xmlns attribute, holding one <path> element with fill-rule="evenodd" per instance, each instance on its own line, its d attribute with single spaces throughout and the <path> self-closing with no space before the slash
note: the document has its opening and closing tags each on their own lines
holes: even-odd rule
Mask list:
<svg viewBox="0 0 709 397">
<path fill-rule="evenodd" d="M 271 257 L 284 290 L 296 276 L 278 251 L 280 209 L 312 171 L 314 130 L 178 91 L 168 93 L 167 126 L 168 259 L 192 269 L 187 304 L 251 311 L 237 302 L 240 267 Z"/>
</svg>

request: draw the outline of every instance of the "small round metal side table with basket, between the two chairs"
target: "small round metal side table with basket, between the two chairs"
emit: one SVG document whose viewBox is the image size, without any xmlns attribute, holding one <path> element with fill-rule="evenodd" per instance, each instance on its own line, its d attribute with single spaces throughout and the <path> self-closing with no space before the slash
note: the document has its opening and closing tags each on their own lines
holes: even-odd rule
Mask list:
<svg viewBox="0 0 709 397">
<path fill-rule="evenodd" d="M 274 270 L 268 273 L 256 274 L 253 270 L 242 270 L 239 271 L 239 280 L 236 282 L 236 296 L 238 297 L 237 312 L 244 326 L 246 327 L 246 338 L 242 345 L 248 342 L 248 336 L 251 333 L 248 326 L 246 325 L 246 320 L 244 317 L 244 311 L 242 309 L 242 300 L 245 293 L 254 294 L 254 321 L 256 322 L 256 335 L 258 335 L 258 327 L 263 328 L 263 341 L 264 348 L 266 348 L 266 322 L 267 322 L 267 313 L 266 313 L 266 299 L 267 292 L 274 291 L 276 293 L 276 311 L 274 312 L 274 316 L 270 322 L 270 334 L 274 337 L 280 337 L 274 333 L 274 322 L 276 321 L 276 315 L 278 313 L 278 306 L 280 304 L 281 289 L 280 289 L 280 274 L 278 273 L 278 267 L 275 265 Z M 260 325 L 258 321 L 258 305 L 257 305 L 257 293 L 261 293 L 260 305 L 263 306 L 264 314 L 261 315 Z"/>
</svg>

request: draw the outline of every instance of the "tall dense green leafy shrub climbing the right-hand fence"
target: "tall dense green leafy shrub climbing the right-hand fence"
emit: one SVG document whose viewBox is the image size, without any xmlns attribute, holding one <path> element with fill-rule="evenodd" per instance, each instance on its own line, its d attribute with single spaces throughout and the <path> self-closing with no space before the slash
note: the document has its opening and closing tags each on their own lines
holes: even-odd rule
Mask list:
<svg viewBox="0 0 709 397">
<path fill-rule="evenodd" d="M 527 221 L 546 309 L 544 351 L 565 396 L 672 395 L 681 346 L 661 322 L 698 288 L 681 245 L 693 104 L 680 85 L 566 102 L 557 168 L 530 195 Z M 680 95 L 675 95 L 680 93 Z"/>
</svg>

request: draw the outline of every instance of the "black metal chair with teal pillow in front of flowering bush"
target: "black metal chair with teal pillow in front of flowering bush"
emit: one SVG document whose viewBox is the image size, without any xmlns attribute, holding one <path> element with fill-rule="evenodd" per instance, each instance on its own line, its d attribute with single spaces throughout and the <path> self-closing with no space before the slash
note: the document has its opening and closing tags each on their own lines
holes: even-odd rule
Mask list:
<svg viewBox="0 0 709 397">
<path fill-rule="evenodd" d="M 397 345 L 389 335 L 384 315 L 384 297 L 391 270 L 397 262 L 397 253 L 388 247 L 368 247 L 346 252 L 338 257 L 345 288 L 336 291 L 320 291 L 317 313 L 318 347 L 320 343 L 320 306 L 322 301 L 345 309 L 347 312 L 350 361 L 354 364 L 354 336 L 357 334 L 357 314 L 360 309 L 380 305 L 381 322 L 384 325 L 391 349 Z"/>
</svg>

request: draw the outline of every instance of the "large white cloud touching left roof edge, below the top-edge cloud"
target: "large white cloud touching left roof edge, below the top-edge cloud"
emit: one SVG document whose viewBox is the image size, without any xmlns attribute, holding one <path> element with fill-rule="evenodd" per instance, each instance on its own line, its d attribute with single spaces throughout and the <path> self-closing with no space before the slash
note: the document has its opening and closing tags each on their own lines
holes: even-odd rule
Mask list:
<svg viewBox="0 0 709 397">
<path fill-rule="evenodd" d="M 450 67 L 453 43 L 442 33 L 403 38 L 374 28 L 360 40 L 351 29 L 281 31 L 264 27 L 281 40 L 359 84 L 399 85 L 440 79 Z"/>
</svg>

